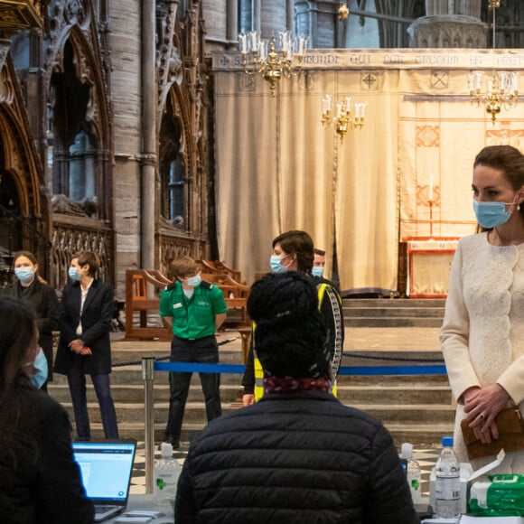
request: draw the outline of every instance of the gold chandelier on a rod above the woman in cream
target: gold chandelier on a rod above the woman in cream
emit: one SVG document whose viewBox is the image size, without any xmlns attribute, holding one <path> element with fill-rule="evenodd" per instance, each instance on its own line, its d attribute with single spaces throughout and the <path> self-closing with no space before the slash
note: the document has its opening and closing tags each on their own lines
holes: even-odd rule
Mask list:
<svg viewBox="0 0 524 524">
<path fill-rule="evenodd" d="M 493 12 L 493 50 L 495 49 L 495 9 L 501 6 L 500 0 L 489 0 L 489 8 Z M 497 115 L 504 108 L 515 108 L 519 103 L 519 73 L 517 71 L 493 70 L 491 79 L 482 87 L 482 71 L 473 71 L 468 75 L 468 90 L 470 101 L 478 108 L 484 106 L 491 115 L 493 125 Z"/>
</svg>

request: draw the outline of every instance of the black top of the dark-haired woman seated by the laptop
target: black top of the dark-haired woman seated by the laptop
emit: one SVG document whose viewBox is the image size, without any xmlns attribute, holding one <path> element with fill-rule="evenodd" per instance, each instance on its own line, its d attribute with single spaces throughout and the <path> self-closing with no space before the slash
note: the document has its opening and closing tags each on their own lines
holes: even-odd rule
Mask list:
<svg viewBox="0 0 524 524">
<path fill-rule="evenodd" d="M 93 521 L 73 459 L 70 421 L 56 400 L 20 379 L 1 404 L 0 432 L 2 524 Z M 19 454 L 13 454 L 14 445 L 21 447 Z"/>
</svg>

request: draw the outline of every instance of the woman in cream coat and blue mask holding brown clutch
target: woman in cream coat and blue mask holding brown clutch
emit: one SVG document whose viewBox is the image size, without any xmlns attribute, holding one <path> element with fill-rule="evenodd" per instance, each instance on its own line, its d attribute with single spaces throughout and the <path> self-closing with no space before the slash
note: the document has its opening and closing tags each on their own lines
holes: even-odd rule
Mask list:
<svg viewBox="0 0 524 524">
<path fill-rule="evenodd" d="M 473 164 L 472 187 L 482 232 L 459 241 L 440 332 L 462 462 L 464 417 L 488 443 L 499 435 L 494 419 L 503 407 L 524 408 L 524 156 L 510 145 L 485 147 Z M 498 470 L 523 472 L 524 450 L 507 454 Z"/>
</svg>

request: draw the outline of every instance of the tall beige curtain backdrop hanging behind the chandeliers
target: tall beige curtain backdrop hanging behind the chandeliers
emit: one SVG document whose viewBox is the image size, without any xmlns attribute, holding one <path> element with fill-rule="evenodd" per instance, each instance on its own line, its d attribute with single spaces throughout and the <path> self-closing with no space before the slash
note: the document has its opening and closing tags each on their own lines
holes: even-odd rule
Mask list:
<svg viewBox="0 0 524 524">
<path fill-rule="evenodd" d="M 524 151 L 522 108 L 492 126 L 466 90 L 470 64 L 506 56 L 516 63 L 508 51 L 313 50 L 276 97 L 238 53 L 213 56 L 220 258 L 251 283 L 269 269 L 271 240 L 304 229 L 328 266 L 336 235 L 342 290 L 397 289 L 400 241 L 473 232 L 475 154 Z M 320 122 L 325 94 L 368 104 L 343 144 Z"/>
</svg>

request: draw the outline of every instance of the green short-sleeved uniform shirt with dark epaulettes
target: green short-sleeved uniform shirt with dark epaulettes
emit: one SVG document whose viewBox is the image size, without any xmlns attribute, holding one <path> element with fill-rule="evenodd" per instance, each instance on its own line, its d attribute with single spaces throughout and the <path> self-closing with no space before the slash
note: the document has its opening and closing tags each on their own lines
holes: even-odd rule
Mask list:
<svg viewBox="0 0 524 524">
<path fill-rule="evenodd" d="M 215 315 L 228 313 L 224 295 L 214 284 L 202 281 L 191 298 L 182 284 L 168 285 L 160 295 L 160 316 L 173 317 L 173 335 L 181 339 L 201 339 L 215 334 Z"/>
</svg>

